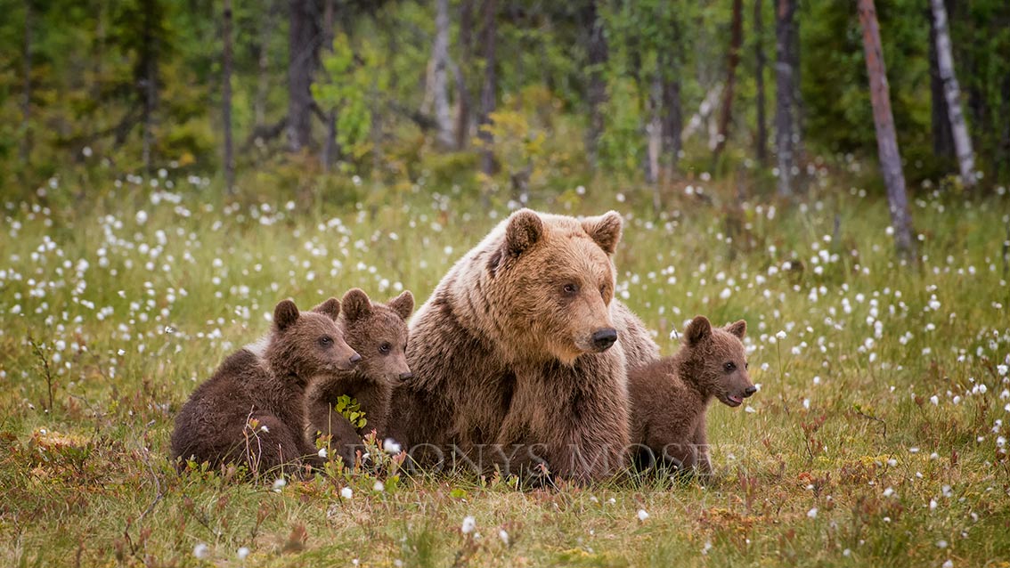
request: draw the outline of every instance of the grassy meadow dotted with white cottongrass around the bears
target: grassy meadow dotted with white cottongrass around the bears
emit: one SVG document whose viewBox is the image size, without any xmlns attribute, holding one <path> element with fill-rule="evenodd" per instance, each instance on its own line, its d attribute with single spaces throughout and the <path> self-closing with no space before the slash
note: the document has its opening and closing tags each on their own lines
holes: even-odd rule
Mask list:
<svg viewBox="0 0 1010 568">
<path fill-rule="evenodd" d="M 0 564 L 238 566 L 246 547 L 244 564 L 276 566 L 1006 566 L 1008 200 L 922 196 L 922 262 L 906 265 L 885 203 L 827 188 L 739 210 L 717 188 L 668 196 L 662 219 L 647 192 L 602 185 L 533 204 L 624 213 L 618 294 L 664 352 L 696 314 L 745 318 L 762 389 L 709 412 L 707 485 L 528 490 L 443 475 L 377 491 L 361 474 L 277 492 L 167 460 L 175 413 L 279 300 L 423 300 L 505 208 L 416 187 L 361 210 L 191 187 L 155 203 L 129 184 L 5 204 Z"/>
</svg>

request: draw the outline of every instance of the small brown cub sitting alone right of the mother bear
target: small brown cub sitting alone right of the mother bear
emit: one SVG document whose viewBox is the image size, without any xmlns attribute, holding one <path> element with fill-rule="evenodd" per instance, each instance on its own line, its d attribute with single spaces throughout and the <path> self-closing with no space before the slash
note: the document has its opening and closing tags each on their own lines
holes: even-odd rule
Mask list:
<svg viewBox="0 0 1010 568">
<path fill-rule="evenodd" d="M 676 354 L 628 372 L 636 466 L 712 472 L 705 410 L 713 397 L 738 407 L 758 390 L 747 374 L 740 341 L 746 330 L 743 320 L 712 328 L 708 319 L 698 316 L 688 324 Z"/>
</svg>

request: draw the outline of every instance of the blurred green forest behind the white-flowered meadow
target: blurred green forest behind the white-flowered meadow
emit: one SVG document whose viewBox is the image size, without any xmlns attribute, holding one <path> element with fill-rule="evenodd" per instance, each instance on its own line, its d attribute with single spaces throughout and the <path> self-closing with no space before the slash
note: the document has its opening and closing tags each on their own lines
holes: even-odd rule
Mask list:
<svg viewBox="0 0 1010 568">
<path fill-rule="evenodd" d="M 519 203 L 602 179 L 662 208 L 708 176 L 774 194 L 783 166 L 789 192 L 825 171 L 883 188 L 855 2 L 2 4 L 4 196 L 162 168 L 332 203 L 419 182 Z M 878 6 L 913 194 L 958 185 L 929 4 Z M 1010 181 L 1010 3 L 945 7 L 987 193 Z"/>
</svg>

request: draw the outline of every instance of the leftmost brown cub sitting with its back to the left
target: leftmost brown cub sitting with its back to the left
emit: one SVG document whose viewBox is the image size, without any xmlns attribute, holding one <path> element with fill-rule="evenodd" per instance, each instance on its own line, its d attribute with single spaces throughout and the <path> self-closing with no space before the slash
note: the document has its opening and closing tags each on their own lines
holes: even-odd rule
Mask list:
<svg viewBox="0 0 1010 568">
<path fill-rule="evenodd" d="M 317 462 L 302 436 L 305 386 L 362 358 L 336 327 L 339 313 L 334 298 L 311 312 L 299 312 L 290 300 L 278 304 L 272 332 L 226 358 L 179 412 L 172 433 L 177 465 L 186 459 L 215 467 L 238 462 L 260 476 Z"/>
</svg>

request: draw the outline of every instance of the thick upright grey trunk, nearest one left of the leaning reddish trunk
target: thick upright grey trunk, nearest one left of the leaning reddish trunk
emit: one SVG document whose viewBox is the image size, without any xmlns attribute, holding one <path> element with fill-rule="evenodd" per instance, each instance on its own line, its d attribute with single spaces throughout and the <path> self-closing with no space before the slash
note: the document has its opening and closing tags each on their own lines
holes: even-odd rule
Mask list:
<svg viewBox="0 0 1010 568">
<path fill-rule="evenodd" d="M 775 16 L 775 141 L 779 165 L 779 195 L 793 195 L 793 18 L 796 0 L 777 0 Z"/>
</svg>

